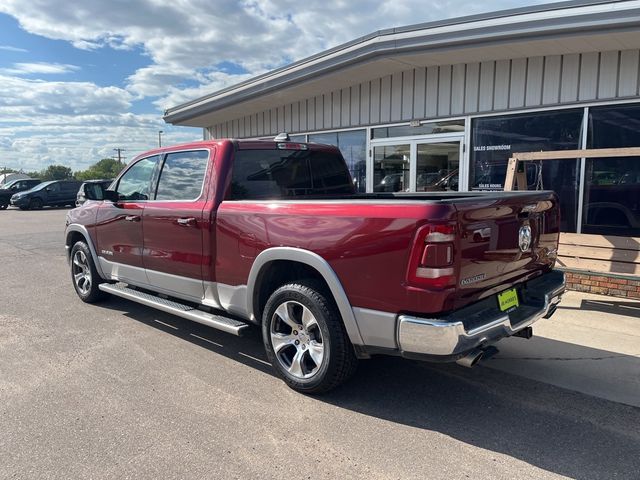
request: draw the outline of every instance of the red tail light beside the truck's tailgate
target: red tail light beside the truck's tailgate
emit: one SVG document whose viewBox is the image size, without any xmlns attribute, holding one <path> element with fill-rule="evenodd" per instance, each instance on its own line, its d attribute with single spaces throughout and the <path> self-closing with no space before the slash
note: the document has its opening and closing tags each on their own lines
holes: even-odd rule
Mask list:
<svg viewBox="0 0 640 480">
<path fill-rule="evenodd" d="M 456 231 L 455 223 L 426 225 L 418 230 L 409 260 L 410 285 L 443 289 L 456 284 L 453 265 Z"/>
</svg>

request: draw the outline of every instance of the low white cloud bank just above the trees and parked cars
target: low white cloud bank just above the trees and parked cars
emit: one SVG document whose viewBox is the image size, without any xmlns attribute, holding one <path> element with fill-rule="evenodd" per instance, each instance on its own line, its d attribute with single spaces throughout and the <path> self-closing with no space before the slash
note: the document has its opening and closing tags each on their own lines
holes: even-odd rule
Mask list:
<svg viewBox="0 0 640 480">
<path fill-rule="evenodd" d="M 39 170 L 58 163 L 87 168 L 123 147 L 130 159 L 164 141 L 201 139 L 197 129 L 165 125 L 158 114 L 128 112 L 132 95 L 90 82 L 46 82 L 0 75 L 0 164 Z"/>
</svg>

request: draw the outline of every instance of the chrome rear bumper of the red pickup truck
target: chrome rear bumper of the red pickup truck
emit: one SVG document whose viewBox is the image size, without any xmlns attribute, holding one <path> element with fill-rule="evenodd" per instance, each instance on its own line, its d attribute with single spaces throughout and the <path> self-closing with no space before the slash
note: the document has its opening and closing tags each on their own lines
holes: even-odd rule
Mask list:
<svg viewBox="0 0 640 480">
<path fill-rule="evenodd" d="M 564 293 L 564 273 L 554 270 L 516 288 L 520 306 L 511 313 L 500 312 L 492 296 L 440 318 L 401 315 L 397 339 L 402 354 L 455 360 L 548 318 Z"/>
</svg>

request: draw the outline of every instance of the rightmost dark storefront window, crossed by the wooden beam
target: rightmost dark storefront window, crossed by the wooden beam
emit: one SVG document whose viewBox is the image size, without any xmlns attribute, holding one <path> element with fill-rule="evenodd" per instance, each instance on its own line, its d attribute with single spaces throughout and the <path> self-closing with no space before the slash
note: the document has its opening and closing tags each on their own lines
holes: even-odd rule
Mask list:
<svg viewBox="0 0 640 480">
<path fill-rule="evenodd" d="M 640 106 L 589 109 L 588 148 L 637 147 Z M 582 232 L 640 236 L 640 157 L 586 160 Z"/>
</svg>

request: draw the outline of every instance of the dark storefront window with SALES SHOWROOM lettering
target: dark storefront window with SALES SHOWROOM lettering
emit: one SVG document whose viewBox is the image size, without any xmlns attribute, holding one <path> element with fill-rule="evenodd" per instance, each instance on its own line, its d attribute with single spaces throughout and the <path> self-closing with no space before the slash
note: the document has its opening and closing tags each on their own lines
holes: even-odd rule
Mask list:
<svg viewBox="0 0 640 480">
<path fill-rule="evenodd" d="M 471 190 L 502 190 L 513 152 L 572 150 L 581 146 L 583 110 L 477 118 L 471 129 Z M 527 162 L 529 189 L 560 197 L 561 229 L 577 228 L 579 161 Z"/>
</svg>

